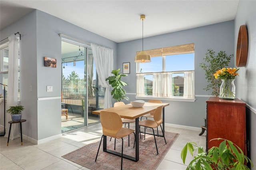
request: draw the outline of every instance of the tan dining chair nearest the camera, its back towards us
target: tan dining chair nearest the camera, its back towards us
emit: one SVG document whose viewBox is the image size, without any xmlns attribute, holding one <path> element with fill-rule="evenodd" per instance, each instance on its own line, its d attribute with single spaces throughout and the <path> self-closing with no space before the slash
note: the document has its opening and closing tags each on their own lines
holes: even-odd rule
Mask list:
<svg viewBox="0 0 256 170">
<path fill-rule="evenodd" d="M 135 144 L 135 133 L 133 129 L 130 128 L 123 128 L 123 123 L 121 117 L 115 112 L 109 111 L 101 111 L 100 112 L 100 123 L 102 125 L 102 136 L 100 140 L 100 144 L 102 142 L 103 136 L 110 136 L 115 139 L 122 138 L 122 152 L 121 152 L 121 170 L 123 166 L 123 147 L 124 147 L 124 140 L 123 137 L 129 136 L 130 134 L 134 134 L 134 144 Z M 134 147 L 134 146 L 133 146 Z M 95 162 L 98 157 L 98 153 L 100 150 L 100 145 L 98 148 L 98 152 L 95 158 Z"/>
</svg>

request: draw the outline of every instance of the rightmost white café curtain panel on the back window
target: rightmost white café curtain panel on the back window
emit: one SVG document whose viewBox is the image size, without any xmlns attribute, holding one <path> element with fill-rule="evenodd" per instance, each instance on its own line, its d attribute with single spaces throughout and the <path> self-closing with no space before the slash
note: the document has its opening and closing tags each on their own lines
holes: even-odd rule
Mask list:
<svg viewBox="0 0 256 170">
<path fill-rule="evenodd" d="M 195 99 L 194 79 L 194 71 L 184 71 L 184 98 Z"/>
</svg>

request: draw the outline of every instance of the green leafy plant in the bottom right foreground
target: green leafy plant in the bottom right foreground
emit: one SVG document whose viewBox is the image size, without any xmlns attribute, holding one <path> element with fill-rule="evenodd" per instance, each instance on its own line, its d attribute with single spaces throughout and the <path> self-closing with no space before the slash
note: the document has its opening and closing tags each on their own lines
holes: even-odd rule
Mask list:
<svg viewBox="0 0 256 170">
<path fill-rule="evenodd" d="M 214 146 L 208 150 L 203 150 L 203 147 L 197 146 L 195 142 L 188 142 L 181 151 L 181 158 L 185 164 L 187 151 L 194 156 L 194 151 L 198 150 L 193 160 L 188 164 L 187 170 L 250 170 L 246 163 L 252 161 L 244 155 L 241 148 L 230 140 L 223 138 L 215 138 L 212 140 L 223 140 L 220 145 Z M 210 140 L 210 141 L 212 141 Z"/>
</svg>

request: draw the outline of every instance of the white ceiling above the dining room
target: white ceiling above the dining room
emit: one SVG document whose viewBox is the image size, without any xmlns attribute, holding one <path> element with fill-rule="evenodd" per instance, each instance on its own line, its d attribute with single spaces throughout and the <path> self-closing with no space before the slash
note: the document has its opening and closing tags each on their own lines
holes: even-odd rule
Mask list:
<svg viewBox="0 0 256 170">
<path fill-rule="evenodd" d="M 0 0 L 0 30 L 34 9 L 114 42 L 233 20 L 239 0 Z M 22 33 L 21 33 L 22 34 Z"/>
</svg>

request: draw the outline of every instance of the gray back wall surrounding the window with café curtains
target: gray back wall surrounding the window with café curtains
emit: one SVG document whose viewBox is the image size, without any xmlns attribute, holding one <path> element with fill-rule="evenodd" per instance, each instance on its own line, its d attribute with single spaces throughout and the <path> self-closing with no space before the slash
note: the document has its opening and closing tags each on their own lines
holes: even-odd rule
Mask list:
<svg viewBox="0 0 256 170">
<path fill-rule="evenodd" d="M 144 28 L 146 29 L 146 28 Z M 136 51 L 142 50 L 142 40 L 134 40 L 130 42 L 118 43 L 118 65 L 122 68 L 122 63 L 130 62 L 130 74 L 123 77 L 129 85 L 125 87 L 129 93 L 130 101 L 136 100 L 136 63 L 134 57 Z M 204 125 L 203 118 L 206 117 L 206 100 L 208 92 L 204 91 L 207 82 L 203 69 L 199 67 L 199 63 L 203 62 L 203 58 L 207 49 L 211 48 L 216 53 L 220 50 L 226 51 L 228 55 L 234 54 L 234 20 L 222 22 L 209 26 L 163 34 L 150 38 L 144 38 L 144 49 L 156 49 L 160 47 L 169 47 L 187 43 L 195 43 L 195 102 L 184 101 L 163 101 L 170 103 L 166 107 L 166 123 L 184 125 L 200 128 Z M 233 67 L 234 59 L 230 62 Z M 133 95 L 134 94 L 134 95 Z M 203 96 L 203 97 L 202 97 Z M 130 101 L 124 101 L 129 103 Z"/>
</svg>

